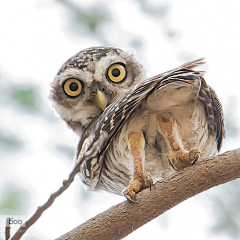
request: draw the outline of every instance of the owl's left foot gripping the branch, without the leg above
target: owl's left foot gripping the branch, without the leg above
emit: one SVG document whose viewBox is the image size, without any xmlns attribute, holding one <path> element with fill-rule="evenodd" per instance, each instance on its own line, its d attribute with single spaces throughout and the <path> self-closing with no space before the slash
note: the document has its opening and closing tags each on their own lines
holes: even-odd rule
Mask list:
<svg viewBox="0 0 240 240">
<path fill-rule="evenodd" d="M 143 173 L 142 178 L 134 179 L 129 187 L 127 187 L 123 194 L 131 202 L 135 202 L 136 194 L 143 188 L 150 187 L 153 185 L 153 180 L 149 173 Z"/>
</svg>

